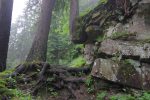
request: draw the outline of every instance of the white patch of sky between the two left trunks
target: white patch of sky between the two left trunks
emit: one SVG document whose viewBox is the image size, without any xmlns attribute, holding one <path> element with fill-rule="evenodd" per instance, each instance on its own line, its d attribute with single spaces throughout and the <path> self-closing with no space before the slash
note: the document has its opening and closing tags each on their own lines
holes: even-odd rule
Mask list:
<svg viewBox="0 0 150 100">
<path fill-rule="evenodd" d="M 12 22 L 15 22 L 17 17 L 22 14 L 27 0 L 14 0 Z"/>
</svg>

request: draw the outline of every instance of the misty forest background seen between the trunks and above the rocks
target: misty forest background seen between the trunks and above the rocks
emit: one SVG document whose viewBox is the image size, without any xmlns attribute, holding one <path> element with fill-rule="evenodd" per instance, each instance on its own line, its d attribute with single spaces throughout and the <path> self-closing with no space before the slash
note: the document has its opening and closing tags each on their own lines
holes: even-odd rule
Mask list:
<svg viewBox="0 0 150 100">
<path fill-rule="evenodd" d="M 57 0 L 53 11 L 47 50 L 47 61 L 52 64 L 68 65 L 82 53 L 82 45 L 75 46 L 70 41 L 69 1 Z M 90 11 L 99 1 L 79 0 L 80 14 Z M 25 61 L 36 34 L 40 4 L 40 0 L 14 0 L 7 66 Z"/>
</svg>

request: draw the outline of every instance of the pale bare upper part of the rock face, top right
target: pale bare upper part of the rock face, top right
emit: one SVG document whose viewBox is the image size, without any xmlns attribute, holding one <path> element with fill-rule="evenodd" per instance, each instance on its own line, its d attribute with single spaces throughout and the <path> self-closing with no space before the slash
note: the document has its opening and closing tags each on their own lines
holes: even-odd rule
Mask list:
<svg viewBox="0 0 150 100">
<path fill-rule="evenodd" d="M 131 2 L 134 5 L 137 0 L 131 0 Z M 114 26 L 109 26 L 105 34 L 112 36 L 114 33 L 123 32 L 136 33 L 132 40 L 150 39 L 150 0 L 141 0 L 136 13 L 127 20 L 127 23 L 116 23 Z"/>
</svg>

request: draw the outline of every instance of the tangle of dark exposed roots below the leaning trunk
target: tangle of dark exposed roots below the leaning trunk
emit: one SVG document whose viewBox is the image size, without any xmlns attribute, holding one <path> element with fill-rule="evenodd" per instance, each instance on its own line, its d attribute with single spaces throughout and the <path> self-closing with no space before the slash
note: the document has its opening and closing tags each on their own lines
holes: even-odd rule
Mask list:
<svg viewBox="0 0 150 100">
<path fill-rule="evenodd" d="M 23 84 L 35 81 L 30 89 L 33 95 L 37 95 L 38 91 L 45 84 L 49 84 L 56 90 L 66 88 L 70 93 L 70 97 L 78 98 L 74 91 L 80 87 L 81 83 L 85 82 L 85 76 L 90 72 L 90 67 L 69 68 L 41 62 L 19 65 L 12 74 L 12 77 L 23 75 L 22 78 L 17 80 L 17 82 Z"/>
</svg>

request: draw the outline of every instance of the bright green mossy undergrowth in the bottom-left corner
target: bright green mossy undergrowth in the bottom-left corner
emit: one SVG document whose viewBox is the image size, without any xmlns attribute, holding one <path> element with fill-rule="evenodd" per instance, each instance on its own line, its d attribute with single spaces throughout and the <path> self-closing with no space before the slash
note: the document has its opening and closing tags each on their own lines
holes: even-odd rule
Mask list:
<svg viewBox="0 0 150 100">
<path fill-rule="evenodd" d="M 0 73 L 0 100 L 32 100 L 29 93 L 17 89 L 17 83 L 10 74 L 14 70 L 6 70 Z"/>
</svg>

